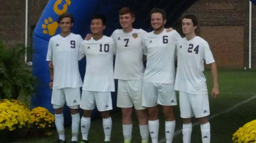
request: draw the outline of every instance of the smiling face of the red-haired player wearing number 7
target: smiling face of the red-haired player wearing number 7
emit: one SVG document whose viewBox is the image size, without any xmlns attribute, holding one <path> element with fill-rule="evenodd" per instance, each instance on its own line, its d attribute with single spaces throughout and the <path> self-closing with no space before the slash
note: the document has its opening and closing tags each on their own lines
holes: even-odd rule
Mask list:
<svg viewBox="0 0 256 143">
<path fill-rule="evenodd" d="M 135 17 L 130 13 L 119 15 L 119 23 L 123 29 L 132 28 L 132 23 L 134 22 Z"/>
</svg>

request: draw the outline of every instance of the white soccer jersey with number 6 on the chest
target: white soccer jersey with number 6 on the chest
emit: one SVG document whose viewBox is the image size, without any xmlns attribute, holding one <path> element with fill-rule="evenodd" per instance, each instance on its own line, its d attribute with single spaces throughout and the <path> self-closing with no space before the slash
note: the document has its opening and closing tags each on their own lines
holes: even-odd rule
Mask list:
<svg viewBox="0 0 256 143">
<path fill-rule="evenodd" d="M 175 80 L 175 44 L 181 36 L 173 30 L 160 34 L 154 31 L 143 38 L 144 51 L 147 55 L 147 67 L 144 82 L 173 84 Z"/>
</svg>

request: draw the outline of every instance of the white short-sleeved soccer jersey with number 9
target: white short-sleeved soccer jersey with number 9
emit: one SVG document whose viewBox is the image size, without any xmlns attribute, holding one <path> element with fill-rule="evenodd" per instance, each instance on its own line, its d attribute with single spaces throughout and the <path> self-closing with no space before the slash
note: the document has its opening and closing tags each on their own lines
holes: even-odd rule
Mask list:
<svg viewBox="0 0 256 143">
<path fill-rule="evenodd" d="M 54 89 L 76 88 L 83 85 L 78 70 L 78 52 L 83 39 L 70 33 L 66 37 L 56 35 L 50 38 L 46 61 L 54 66 Z"/>
</svg>

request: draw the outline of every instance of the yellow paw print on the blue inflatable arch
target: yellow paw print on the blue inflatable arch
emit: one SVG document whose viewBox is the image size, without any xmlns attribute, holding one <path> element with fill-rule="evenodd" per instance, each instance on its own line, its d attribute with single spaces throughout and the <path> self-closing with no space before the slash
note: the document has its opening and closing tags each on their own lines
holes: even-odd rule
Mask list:
<svg viewBox="0 0 256 143">
<path fill-rule="evenodd" d="M 49 34 L 50 36 L 53 36 L 58 28 L 57 22 L 52 22 L 52 18 L 49 17 L 48 20 L 44 20 L 44 24 L 42 24 L 42 28 L 44 34 Z"/>
</svg>

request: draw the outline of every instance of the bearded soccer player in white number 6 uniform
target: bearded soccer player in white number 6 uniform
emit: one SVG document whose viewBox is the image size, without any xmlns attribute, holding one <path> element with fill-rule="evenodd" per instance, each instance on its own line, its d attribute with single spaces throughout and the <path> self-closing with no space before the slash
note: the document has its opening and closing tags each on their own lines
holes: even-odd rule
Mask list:
<svg viewBox="0 0 256 143">
<path fill-rule="evenodd" d="M 174 30 L 166 32 L 166 12 L 159 8 L 150 11 L 154 29 L 143 38 L 147 67 L 143 77 L 142 105 L 149 113 L 152 143 L 158 143 L 158 104 L 163 106 L 166 143 L 171 143 L 175 129 L 173 106 L 177 105 L 174 91 L 175 44 L 181 36 Z"/>
</svg>

